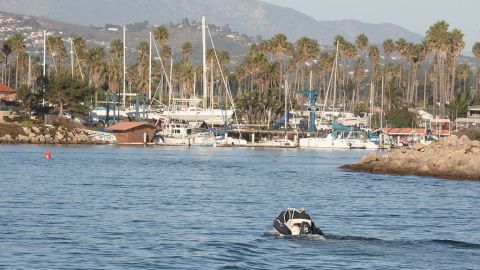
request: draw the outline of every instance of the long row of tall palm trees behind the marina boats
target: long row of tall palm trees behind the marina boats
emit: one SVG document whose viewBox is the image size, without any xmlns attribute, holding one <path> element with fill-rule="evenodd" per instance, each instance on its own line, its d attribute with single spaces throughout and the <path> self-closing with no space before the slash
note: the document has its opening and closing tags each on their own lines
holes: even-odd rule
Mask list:
<svg viewBox="0 0 480 270">
<path fill-rule="evenodd" d="M 174 58 L 168 46 L 168 28 L 155 27 L 153 37 L 161 56 L 161 61 L 152 62 L 155 99 L 166 103 L 170 97 L 199 95 L 202 66 L 190 59 L 192 44 L 185 42 L 181 59 Z M 338 35 L 332 41 L 333 49 L 326 49 L 315 39 L 302 37 L 291 42 L 279 33 L 252 44 L 236 66 L 230 63 L 228 52 L 208 49 L 207 91 L 213 97 L 211 104 L 225 106 L 221 98 L 225 79 L 235 96 L 237 113 L 257 123 L 269 122 L 283 113 L 286 81 L 288 106 L 292 109 L 302 109 L 306 101 L 298 90 L 314 89 L 319 92 L 319 104 L 326 101 L 345 110 L 370 107 L 373 112 L 383 103 L 386 111 L 425 108 L 436 116 L 453 118 L 466 113 L 466 106 L 478 92 L 478 64 L 472 69 L 457 63 L 465 47 L 463 38 L 461 30 L 450 29 L 445 21 L 430 26 L 418 43 L 400 38 L 370 44 L 364 34 L 354 41 Z M 48 63 L 43 76 L 43 59 L 26 51 L 21 33 L 2 43 L 2 82 L 19 91 L 25 111 L 69 110 L 85 116 L 106 93 L 118 93 L 123 87 L 122 40 L 111 40 L 107 47 L 87 46 L 84 37 L 73 36 L 71 44 L 60 35 L 47 37 Z M 148 93 L 149 49 L 147 41 L 136 47 L 135 59 L 126 72 L 129 92 Z M 70 50 L 74 52 L 73 61 Z M 472 52 L 478 63 L 480 43 L 475 43 Z M 39 108 L 40 99 L 53 106 Z"/>
</svg>

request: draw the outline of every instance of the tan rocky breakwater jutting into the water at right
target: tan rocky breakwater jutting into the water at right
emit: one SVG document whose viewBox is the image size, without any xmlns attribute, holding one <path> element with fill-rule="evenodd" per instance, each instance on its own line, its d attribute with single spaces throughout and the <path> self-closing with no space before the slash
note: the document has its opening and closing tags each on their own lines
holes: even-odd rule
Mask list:
<svg viewBox="0 0 480 270">
<path fill-rule="evenodd" d="M 431 145 L 372 153 L 340 168 L 370 173 L 480 180 L 480 141 L 452 135 Z"/>
</svg>

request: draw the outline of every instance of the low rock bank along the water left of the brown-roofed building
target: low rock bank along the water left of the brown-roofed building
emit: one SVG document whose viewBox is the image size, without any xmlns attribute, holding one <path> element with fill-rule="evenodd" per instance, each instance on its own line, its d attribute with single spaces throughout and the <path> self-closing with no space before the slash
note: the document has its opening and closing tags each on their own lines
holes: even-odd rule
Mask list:
<svg viewBox="0 0 480 270">
<path fill-rule="evenodd" d="M 0 124 L 0 143 L 93 144 L 97 141 L 78 128 Z"/>
</svg>

